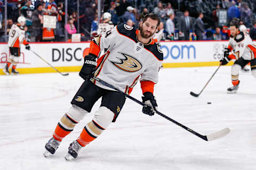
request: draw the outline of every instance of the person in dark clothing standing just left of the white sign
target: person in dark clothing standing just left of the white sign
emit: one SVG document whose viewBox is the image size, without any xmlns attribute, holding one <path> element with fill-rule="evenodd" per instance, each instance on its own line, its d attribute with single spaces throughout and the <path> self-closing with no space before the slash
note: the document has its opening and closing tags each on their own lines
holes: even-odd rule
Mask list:
<svg viewBox="0 0 256 170">
<path fill-rule="evenodd" d="M 37 4 L 37 9 L 32 14 L 32 28 L 31 36 L 36 42 L 42 40 L 42 24 L 43 24 L 43 4 Z"/>
</svg>

